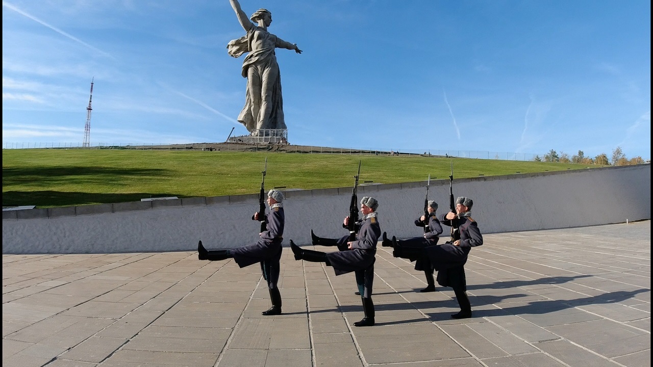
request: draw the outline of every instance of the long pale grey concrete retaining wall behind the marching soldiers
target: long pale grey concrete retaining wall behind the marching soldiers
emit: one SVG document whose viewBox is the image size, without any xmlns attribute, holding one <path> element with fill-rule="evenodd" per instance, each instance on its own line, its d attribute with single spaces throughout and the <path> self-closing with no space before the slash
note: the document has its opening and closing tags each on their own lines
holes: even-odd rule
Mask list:
<svg viewBox="0 0 653 367">
<path fill-rule="evenodd" d="M 650 219 L 650 165 L 590 168 L 454 180 L 454 196 L 474 200 L 482 232 L 585 227 Z M 381 230 L 421 235 L 426 182 L 362 185 L 358 198 L 379 200 Z M 283 243 L 310 243 L 347 232 L 351 187 L 287 191 Z M 449 207 L 449 180 L 431 182 L 438 214 Z M 123 202 L 66 208 L 3 211 L 3 253 L 129 253 L 236 247 L 258 238 L 251 220 L 257 195 Z M 448 227 L 445 227 L 445 234 Z M 445 237 L 443 235 L 443 237 Z"/>
</svg>

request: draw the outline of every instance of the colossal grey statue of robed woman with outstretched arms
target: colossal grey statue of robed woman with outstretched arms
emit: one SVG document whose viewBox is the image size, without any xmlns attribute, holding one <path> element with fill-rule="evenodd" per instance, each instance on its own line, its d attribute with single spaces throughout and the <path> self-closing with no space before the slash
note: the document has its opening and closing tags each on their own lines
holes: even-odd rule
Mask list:
<svg viewBox="0 0 653 367">
<path fill-rule="evenodd" d="M 268 32 L 272 23 L 270 11 L 259 9 L 248 19 L 237 0 L 229 2 L 247 34 L 231 40 L 227 44 L 227 52 L 232 57 L 240 57 L 249 52 L 242 67 L 242 76 L 247 78 L 245 106 L 238 115 L 238 121 L 253 135 L 260 129 L 285 130 L 281 76 L 274 49 L 286 48 L 295 50 L 297 54 L 301 54 L 302 50 L 297 48 L 297 44 L 286 42 Z M 258 25 L 250 22 L 250 19 Z"/>
</svg>

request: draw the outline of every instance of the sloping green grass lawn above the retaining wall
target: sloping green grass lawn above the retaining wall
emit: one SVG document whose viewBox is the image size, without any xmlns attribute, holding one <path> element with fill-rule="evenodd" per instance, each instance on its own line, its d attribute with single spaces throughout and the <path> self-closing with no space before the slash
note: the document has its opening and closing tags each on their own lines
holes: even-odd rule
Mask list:
<svg viewBox="0 0 653 367">
<path fill-rule="evenodd" d="M 582 169 L 585 165 L 319 153 L 201 152 L 150 150 L 3 150 L 3 206 L 39 208 L 139 201 L 149 197 L 212 197 L 257 193 L 268 158 L 266 189 L 351 187 L 498 176 L 516 172 Z M 593 166 L 596 167 L 596 166 Z"/>
</svg>

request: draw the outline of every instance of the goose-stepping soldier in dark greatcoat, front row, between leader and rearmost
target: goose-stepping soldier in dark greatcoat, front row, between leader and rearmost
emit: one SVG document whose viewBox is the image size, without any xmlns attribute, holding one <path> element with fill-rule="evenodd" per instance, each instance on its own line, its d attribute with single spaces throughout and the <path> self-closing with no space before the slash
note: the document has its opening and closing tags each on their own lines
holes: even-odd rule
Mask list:
<svg viewBox="0 0 653 367">
<path fill-rule="evenodd" d="M 347 242 L 349 251 L 324 253 L 296 246 L 293 240 L 291 249 L 295 253 L 295 260 L 326 263 L 333 266 L 336 276 L 355 272 L 356 283 L 363 304 L 365 317 L 354 323 L 355 327 L 369 327 L 374 325 L 374 303 L 372 302 L 372 285 L 374 283 L 374 262 L 376 261 L 376 243 L 381 235 L 381 227 L 377 219 L 376 209 L 379 202 L 372 197 L 363 197 L 360 200 L 360 212 L 363 221 L 356 235 L 356 240 Z M 349 223 L 345 217 L 345 224 Z"/>
</svg>

